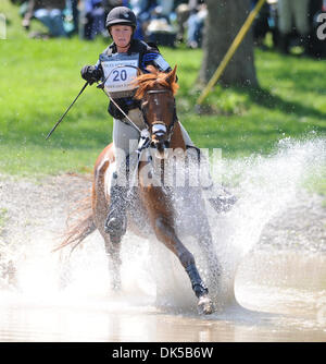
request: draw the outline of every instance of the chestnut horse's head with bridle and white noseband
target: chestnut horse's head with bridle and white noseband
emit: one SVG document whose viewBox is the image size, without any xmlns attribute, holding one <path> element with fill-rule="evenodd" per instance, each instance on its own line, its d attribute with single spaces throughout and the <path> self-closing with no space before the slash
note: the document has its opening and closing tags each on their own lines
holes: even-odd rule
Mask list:
<svg viewBox="0 0 326 364">
<path fill-rule="evenodd" d="M 143 120 L 151 135 L 151 146 L 162 153 L 170 146 L 176 122 L 176 66 L 170 73 L 159 72 L 153 66 L 148 70 L 150 73 L 136 78 L 138 89 L 135 98 L 140 100 Z"/>
</svg>

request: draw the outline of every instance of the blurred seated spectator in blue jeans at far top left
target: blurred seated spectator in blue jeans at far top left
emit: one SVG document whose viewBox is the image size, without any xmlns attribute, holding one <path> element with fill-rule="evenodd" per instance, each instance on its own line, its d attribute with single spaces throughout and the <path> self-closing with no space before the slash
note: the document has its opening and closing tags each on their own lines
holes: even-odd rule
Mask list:
<svg viewBox="0 0 326 364">
<path fill-rule="evenodd" d="M 66 37 L 63 26 L 65 0 L 29 0 L 23 19 L 23 26 L 29 29 L 33 17 L 39 20 L 52 37 Z"/>
</svg>

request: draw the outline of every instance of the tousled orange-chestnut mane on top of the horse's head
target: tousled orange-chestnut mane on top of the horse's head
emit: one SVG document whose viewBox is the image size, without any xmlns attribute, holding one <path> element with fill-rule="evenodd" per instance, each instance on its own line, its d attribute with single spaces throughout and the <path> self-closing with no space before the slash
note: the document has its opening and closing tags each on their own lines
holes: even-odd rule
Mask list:
<svg viewBox="0 0 326 364">
<path fill-rule="evenodd" d="M 173 95 L 176 94 L 179 86 L 173 75 L 174 71 L 170 73 L 159 72 L 152 65 L 149 65 L 147 70 L 150 71 L 150 73 L 141 74 L 135 80 L 135 85 L 138 87 L 135 94 L 136 99 L 141 99 L 149 89 L 153 89 L 158 85 L 171 89 Z"/>
</svg>

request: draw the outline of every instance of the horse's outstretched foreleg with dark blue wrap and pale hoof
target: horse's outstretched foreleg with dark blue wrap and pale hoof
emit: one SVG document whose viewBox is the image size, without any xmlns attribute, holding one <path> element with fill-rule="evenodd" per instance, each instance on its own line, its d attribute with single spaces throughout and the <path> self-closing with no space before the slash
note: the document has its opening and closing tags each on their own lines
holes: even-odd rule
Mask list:
<svg viewBox="0 0 326 364">
<path fill-rule="evenodd" d="M 173 225 L 163 217 L 156 217 L 154 221 L 155 234 L 180 260 L 186 272 L 189 276 L 192 290 L 199 299 L 198 306 L 204 314 L 211 314 L 213 311 L 212 301 L 209 299 L 209 290 L 201 279 L 197 269 L 193 255 L 177 238 Z"/>
</svg>

